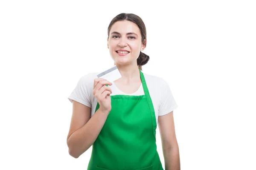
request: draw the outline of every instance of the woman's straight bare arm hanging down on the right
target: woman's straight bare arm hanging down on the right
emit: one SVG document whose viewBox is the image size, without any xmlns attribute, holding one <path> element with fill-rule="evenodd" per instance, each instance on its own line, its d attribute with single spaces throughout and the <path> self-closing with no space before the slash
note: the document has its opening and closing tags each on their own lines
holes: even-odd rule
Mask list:
<svg viewBox="0 0 256 170">
<path fill-rule="evenodd" d="M 180 153 L 175 134 L 173 111 L 158 117 L 166 170 L 180 170 Z"/>
</svg>

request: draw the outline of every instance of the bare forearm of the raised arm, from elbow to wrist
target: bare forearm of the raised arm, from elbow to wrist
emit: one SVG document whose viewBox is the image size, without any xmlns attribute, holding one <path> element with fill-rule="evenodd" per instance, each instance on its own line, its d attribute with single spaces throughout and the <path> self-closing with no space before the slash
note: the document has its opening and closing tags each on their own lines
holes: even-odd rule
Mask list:
<svg viewBox="0 0 256 170">
<path fill-rule="evenodd" d="M 99 136 L 107 117 L 108 113 L 97 110 L 83 127 L 72 133 L 67 140 L 71 156 L 78 158 L 92 146 Z"/>
</svg>

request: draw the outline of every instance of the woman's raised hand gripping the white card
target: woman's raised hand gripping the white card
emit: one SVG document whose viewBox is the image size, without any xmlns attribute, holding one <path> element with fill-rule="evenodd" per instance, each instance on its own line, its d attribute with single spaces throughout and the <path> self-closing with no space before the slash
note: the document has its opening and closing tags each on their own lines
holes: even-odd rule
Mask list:
<svg viewBox="0 0 256 170">
<path fill-rule="evenodd" d="M 111 111 L 110 94 L 112 91 L 111 88 L 106 85 L 112 85 L 112 83 L 102 78 L 94 79 L 93 95 L 99 102 L 99 110 L 105 113 L 109 113 Z"/>
</svg>

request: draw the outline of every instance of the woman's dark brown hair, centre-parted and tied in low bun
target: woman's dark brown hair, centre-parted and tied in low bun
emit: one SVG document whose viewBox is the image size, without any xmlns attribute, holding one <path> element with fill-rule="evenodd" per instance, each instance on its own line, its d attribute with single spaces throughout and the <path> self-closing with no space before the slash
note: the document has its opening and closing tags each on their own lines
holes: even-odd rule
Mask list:
<svg viewBox="0 0 256 170">
<path fill-rule="evenodd" d="M 140 28 L 141 40 L 142 40 L 142 43 L 146 46 L 146 42 L 144 41 L 144 40 L 147 40 L 147 32 L 146 32 L 145 24 L 143 23 L 143 20 L 135 14 L 121 13 L 116 15 L 116 17 L 114 17 L 111 20 L 108 26 L 108 38 L 109 38 L 110 29 L 113 26 L 113 24 L 116 23 L 117 21 L 123 21 L 123 20 L 131 21 Z M 137 65 L 140 68 L 140 70 L 142 70 L 142 66 L 145 65 L 148 62 L 148 60 L 149 60 L 149 56 L 140 51 L 140 55 L 137 59 Z"/>
</svg>

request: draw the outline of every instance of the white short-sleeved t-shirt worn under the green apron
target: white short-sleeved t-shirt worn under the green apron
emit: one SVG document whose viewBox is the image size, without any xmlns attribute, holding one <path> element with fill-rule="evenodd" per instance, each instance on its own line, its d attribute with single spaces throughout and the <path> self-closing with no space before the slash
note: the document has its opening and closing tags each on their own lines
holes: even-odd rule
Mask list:
<svg viewBox="0 0 256 170">
<path fill-rule="evenodd" d="M 99 73 L 89 73 L 82 76 L 79 79 L 76 88 L 68 97 L 70 102 L 73 102 L 73 100 L 75 100 L 76 102 L 79 102 L 83 105 L 90 107 L 91 116 L 93 116 L 98 102 L 95 96 L 93 95 L 93 81 L 97 78 L 97 74 Z M 174 111 L 178 106 L 172 95 L 172 91 L 169 88 L 168 83 L 164 79 L 145 73 L 143 73 L 143 75 L 145 77 L 149 95 L 154 105 L 156 121 L 158 122 L 158 116 L 166 115 Z M 116 87 L 114 83 L 109 87 L 112 90 L 111 96 L 118 94 L 133 96 L 144 95 L 142 84 L 134 94 L 123 93 L 119 90 L 119 88 Z"/>
</svg>

